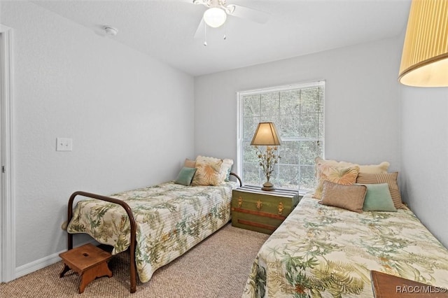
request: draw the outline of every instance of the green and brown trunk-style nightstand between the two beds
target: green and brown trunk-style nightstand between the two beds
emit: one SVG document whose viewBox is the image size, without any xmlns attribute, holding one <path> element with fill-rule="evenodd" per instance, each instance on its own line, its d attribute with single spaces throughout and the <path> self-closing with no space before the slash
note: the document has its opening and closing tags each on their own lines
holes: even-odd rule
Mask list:
<svg viewBox="0 0 448 298">
<path fill-rule="evenodd" d="M 272 234 L 300 201 L 294 190 L 242 186 L 232 193 L 232 226 Z"/>
</svg>

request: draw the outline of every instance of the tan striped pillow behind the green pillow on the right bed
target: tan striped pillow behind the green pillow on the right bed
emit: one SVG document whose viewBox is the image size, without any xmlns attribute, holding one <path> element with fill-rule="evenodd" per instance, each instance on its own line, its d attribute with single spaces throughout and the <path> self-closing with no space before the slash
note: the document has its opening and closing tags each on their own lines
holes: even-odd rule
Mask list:
<svg viewBox="0 0 448 298">
<path fill-rule="evenodd" d="M 387 183 L 389 185 L 389 192 L 393 201 L 393 206 L 397 209 L 404 209 L 405 206 L 401 201 L 400 190 L 398 189 L 398 172 L 394 173 L 359 173 L 356 183 L 359 184 L 379 184 Z"/>
</svg>

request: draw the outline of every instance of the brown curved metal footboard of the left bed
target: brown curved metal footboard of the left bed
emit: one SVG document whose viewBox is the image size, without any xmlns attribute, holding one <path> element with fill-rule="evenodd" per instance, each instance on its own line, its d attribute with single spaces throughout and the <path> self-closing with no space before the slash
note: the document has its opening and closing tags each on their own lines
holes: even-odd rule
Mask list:
<svg viewBox="0 0 448 298">
<path fill-rule="evenodd" d="M 81 197 L 90 197 L 92 199 L 99 199 L 102 201 L 109 201 L 111 203 L 118 204 L 122 206 L 127 216 L 130 220 L 130 227 L 131 227 L 131 240 L 130 240 L 130 292 L 134 293 L 137 290 L 137 268 L 135 265 L 135 233 L 137 230 L 137 225 L 135 223 L 134 215 L 132 214 L 131 208 L 129 205 L 127 205 L 124 201 L 121 201 L 120 199 L 113 199 L 111 197 L 105 197 L 99 194 L 92 194 L 90 192 L 73 192 L 71 194 L 69 199 L 69 204 L 67 206 L 67 224 L 71 221 L 71 218 L 73 217 L 73 201 L 75 197 L 81 196 Z M 67 250 L 71 250 L 73 248 L 73 234 L 70 234 L 67 232 Z"/>
</svg>

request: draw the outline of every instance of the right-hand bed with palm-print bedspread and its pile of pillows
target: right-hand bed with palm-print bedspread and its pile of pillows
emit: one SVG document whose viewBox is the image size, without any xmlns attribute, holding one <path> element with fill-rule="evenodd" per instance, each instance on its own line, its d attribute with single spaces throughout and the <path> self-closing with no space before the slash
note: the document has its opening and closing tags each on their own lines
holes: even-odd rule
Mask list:
<svg viewBox="0 0 448 298">
<path fill-rule="evenodd" d="M 402 204 L 388 162 L 315 162 L 315 190 L 260 248 L 243 297 L 372 298 L 371 271 L 447 290 L 448 250 Z"/>
</svg>

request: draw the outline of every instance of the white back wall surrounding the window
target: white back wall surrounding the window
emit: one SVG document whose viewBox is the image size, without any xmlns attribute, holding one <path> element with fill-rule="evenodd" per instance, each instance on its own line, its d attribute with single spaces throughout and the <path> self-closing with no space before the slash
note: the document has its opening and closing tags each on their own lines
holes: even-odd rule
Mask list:
<svg viewBox="0 0 448 298">
<path fill-rule="evenodd" d="M 324 79 L 325 157 L 400 169 L 396 38 L 195 78 L 195 152 L 237 158 L 237 94 Z"/>
</svg>

